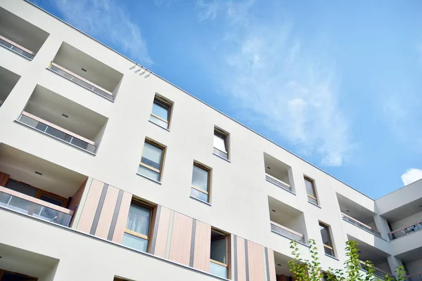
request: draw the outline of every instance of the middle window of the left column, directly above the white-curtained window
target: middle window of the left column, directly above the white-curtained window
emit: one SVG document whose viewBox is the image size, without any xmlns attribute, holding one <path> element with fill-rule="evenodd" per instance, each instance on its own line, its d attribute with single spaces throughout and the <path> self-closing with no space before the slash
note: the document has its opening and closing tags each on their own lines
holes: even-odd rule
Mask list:
<svg viewBox="0 0 422 281">
<path fill-rule="evenodd" d="M 154 181 L 160 181 L 163 157 L 164 148 L 161 148 L 150 141 L 145 141 L 138 174 L 151 178 Z"/>
</svg>

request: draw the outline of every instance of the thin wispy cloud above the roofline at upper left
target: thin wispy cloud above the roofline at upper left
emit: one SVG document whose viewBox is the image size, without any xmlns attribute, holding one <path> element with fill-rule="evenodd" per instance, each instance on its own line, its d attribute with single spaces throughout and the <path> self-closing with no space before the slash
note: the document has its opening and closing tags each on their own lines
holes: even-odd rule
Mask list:
<svg viewBox="0 0 422 281">
<path fill-rule="evenodd" d="M 151 66 L 141 28 L 115 0 L 56 0 L 51 4 L 62 13 L 63 20 L 103 41 L 120 46 L 139 63 Z"/>
</svg>

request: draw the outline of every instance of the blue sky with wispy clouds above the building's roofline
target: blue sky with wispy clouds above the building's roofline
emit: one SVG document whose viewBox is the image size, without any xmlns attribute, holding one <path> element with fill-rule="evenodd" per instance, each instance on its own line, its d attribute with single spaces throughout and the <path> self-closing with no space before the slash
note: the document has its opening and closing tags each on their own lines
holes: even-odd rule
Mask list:
<svg viewBox="0 0 422 281">
<path fill-rule="evenodd" d="M 422 178 L 422 2 L 33 0 L 378 198 Z"/>
</svg>

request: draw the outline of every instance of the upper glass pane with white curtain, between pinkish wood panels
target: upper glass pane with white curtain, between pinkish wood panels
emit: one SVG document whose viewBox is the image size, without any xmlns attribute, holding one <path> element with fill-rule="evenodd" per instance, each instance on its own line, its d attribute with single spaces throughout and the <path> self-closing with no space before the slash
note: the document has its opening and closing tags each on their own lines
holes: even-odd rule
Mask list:
<svg viewBox="0 0 422 281">
<path fill-rule="evenodd" d="M 126 228 L 136 233 L 148 236 L 151 209 L 139 204 L 130 204 L 129 216 L 127 216 Z"/>
</svg>

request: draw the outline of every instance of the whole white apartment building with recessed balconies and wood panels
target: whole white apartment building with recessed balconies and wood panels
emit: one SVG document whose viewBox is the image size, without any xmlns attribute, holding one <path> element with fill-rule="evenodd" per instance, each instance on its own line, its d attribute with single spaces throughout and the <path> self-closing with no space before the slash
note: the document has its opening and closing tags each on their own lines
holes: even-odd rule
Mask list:
<svg viewBox="0 0 422 281">
<path fill-rule="evenodd" d="M 287 281 L 309 239 L 422 280 L 422 181 L 372 200 L 24 0 L 0 45 L 0 281 Z"/>
</svg>

